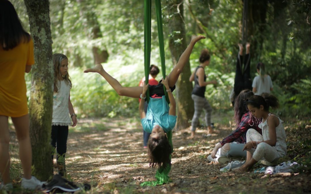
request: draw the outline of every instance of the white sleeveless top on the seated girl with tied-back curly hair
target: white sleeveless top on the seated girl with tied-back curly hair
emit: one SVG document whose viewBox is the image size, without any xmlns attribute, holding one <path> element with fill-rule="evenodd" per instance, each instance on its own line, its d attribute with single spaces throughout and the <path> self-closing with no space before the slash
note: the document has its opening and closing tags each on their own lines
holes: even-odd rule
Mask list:
<svg viewBox="0 0 311 194">
<path fill-rule="evenodd" d="M 269 113 L 269 116 L 271 116 L 271 115 L 272 114 Z M 269 116 L 268 116 L 268 118 L 269 118 Z M 274 116 L 276 116 L 276 115 L 274 115 Z M 265 120 L 265 122 L 260 123 L 258 125 L 258 127 L 260 129 L 262 129 L 262 137 L 263 137 L 264 141 L 270 139 L 270 136 L 269 136 L 269 126 L 267 124 L 268 118 Z M 285 134 L 284 126 L 283 126 L 284 122 L 279 117 L 277 117 L 277 118 L 279 119 L 280 124 L 276 127 L 276 144 L 273 147 L 276 149 L 276 151 L 278 152 L 279 156 L 282 157 L 282 156 L 285 156 L 286 153 L 287 153 L 287 149 L 286 149 L 287 146 L 286 146 L 286 143 L 285 143 L 286 134 Z"/>
</svg>

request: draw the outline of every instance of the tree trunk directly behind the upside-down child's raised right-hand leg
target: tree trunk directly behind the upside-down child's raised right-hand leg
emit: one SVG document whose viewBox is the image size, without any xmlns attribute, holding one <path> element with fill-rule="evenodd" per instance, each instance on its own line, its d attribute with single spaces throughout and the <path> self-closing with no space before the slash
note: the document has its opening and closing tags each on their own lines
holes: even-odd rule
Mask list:
<svg viewBox="0 0 311 194">
<path fill-rule="evenodd" d="M 187 48 L 186 32 L 183 20 L 183 0 L 165 1 L 169 19 L 169 50 L 172 55 L 173 65 L 179 60 L 183 51 Z M 179 75 L 176 83 L 176 103 L 177 103 L 177 129 L 183 129 L 190 126 L 190 120 L 193 117 L 194 105 L 191 98 L 193 89 L 189 82 L 191 75 L 190 63 L 188 62 Z"/>
</svg>

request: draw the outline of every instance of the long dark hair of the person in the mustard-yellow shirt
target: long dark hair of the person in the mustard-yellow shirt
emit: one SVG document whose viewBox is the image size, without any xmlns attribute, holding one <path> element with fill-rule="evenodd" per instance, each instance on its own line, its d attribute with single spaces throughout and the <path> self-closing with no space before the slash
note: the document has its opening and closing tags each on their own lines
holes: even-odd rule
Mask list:
<svg viewBox="0 0 311 194">
<path fill-rule="evenodd" d="M 0 1 L 0 45 L 3 50 L 13 49 L 21 42 L 28 43 L 30 34 L 22 27 L 21 21 L 8 0 Z"/>
</svg>

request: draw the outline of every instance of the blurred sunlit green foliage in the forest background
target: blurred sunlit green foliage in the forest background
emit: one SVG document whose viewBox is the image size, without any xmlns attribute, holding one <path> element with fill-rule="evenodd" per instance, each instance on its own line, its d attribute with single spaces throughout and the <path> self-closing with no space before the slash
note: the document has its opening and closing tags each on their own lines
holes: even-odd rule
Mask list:
<svg viewBox="0 0 311 194">
<path fill-rule="evenodd" d="M 168 48 L 167 21 L 170 16 L 163 5 L 165 58 L 167 72 L 172 69 Z M 53 52 L 69 58 L 69 74 L 73 88 L 71 100 L 78 114 L 84 117 L 137 115 L 138 100 L 119 97 L 98 74 L 84 74 L 94 65 L 92 47 L 106 49 L 109 58 L 103 63 L 109 74 L 123 86 L 137 86 L 143 74 L 143 2 L 141 0 L 89 0 L 82 4 L 74 0 L 50 0 L 50 19 Z M 12 0 L 25 29 L 29 31 L 26 8 L 22 0 Z M 311 27 L 310 1 L 287 0 L 266 3 L 265 23 L 253 21 L 251 43 L 251 74 L 262 61 L 272 77 L 274 94 L 281 107 L 277 114 L 301 117 L 311 113 Z M 279 7 L 278 7 L 279 6 Z M 178 6 L 175 9 L 178 11 Z M 190 57 L 191 69 L 199 64 L 203 48 L 211 52 L 211 63 L 206 73 L 216 79 L 216 87 L 209 85 L 206 97 L 214 109 L 228 111 L 229 94 L 234 84 L 237 43 L 241 42 L 243 2 L 239 0 L 188 0 L 183 1 L 187 42 L 192 34 L 203 34 L 207 39 L 196 45 Z M 152 14 L 151 64 L 160 64 L 155 8 Z M 97 20 L 102 37 L 91 37 L 92 26 L 86 20 Z M 200 28 L 196 19 L 201 21 Z M 262 27 L 264 30 L 262 30 Z M 178 32 L 176 32 L 178 33 Z M 180 40 L 176 40 L 178 42 Z M 258 42 L 260 41 L 260 42 Z M 160 66 L 160 65 L 159 65 Z M 160 76 L 160 75 L 159 75 Z M 160 77 L 157 78 L 160 80 Z M 30 74 L 26 75 L 30 88 Z M 29 89 L 28 89 L 29 91 Z M 28 92 L 29 94 L 29 92 Z M 29 96 L 29 95 L 28 95 Z"/>
</svg>

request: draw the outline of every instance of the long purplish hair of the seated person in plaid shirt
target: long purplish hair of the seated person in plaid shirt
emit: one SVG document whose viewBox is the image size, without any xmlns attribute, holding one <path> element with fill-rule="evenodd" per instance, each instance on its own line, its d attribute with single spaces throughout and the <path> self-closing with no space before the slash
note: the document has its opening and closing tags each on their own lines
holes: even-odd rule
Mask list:
<svg viewBox="0 0 311 194">
<path fill-rule="evenodd" d="M 247 89 L 242 90 L 238 97 L 236 97 L 234 102 L 234 121 L 237 126 L 240 124 L 242 116 L 248 112 L 247 106 L 245 106 L 245 100 L 253 95 L 254 93 Z M 248 123 L 253 126 L 254 124 L 259 124 L 260 120 L 253 117 L 252 114 L 249 114 Z"/>
</svg>

